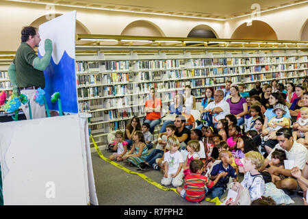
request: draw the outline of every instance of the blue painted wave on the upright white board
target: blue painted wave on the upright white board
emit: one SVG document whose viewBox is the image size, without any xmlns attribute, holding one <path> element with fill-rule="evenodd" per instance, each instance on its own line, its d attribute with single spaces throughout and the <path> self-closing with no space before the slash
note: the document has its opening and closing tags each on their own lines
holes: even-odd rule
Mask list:
<svg viewBox="0 0 308 219">
<path fill-rule="evenodd" d="M 71 58 L 66 51 L 59 64 L 55 64 L 51 57 L 51 63 L 44 70 L 44 77 L 44 91 L 49 110 L 59 110 L 57 103 L 51 103 L 50 100 L 53 93 L 60 92 L 63 112 L 78 113 L 75 59 Z"/>
</svg>

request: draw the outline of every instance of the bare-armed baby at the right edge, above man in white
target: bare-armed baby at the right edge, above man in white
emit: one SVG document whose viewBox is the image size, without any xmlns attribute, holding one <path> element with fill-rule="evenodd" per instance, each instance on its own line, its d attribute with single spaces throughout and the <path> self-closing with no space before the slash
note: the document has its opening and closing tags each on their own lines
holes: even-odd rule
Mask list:
<svg viewBox="0 0 308 219">
<path fill-rule="evenodd" d="M 299 129 L 298 129 L 299 128 Z M 293 124 L 293 129 L 295 129 L 292 132 L 293 140 L 296 141 L 298 138 L 305 138 L 304 141 L 300 141 L 298 139 L 298 143 L 302 143 L 304 145 L 308 145 L 308 132 L 300 131 L 300 129 L 308 128 L 308 107 L 301 107 L 300 108 L 300 117 L 296 121 L 296 123 Z"/>
</svg>

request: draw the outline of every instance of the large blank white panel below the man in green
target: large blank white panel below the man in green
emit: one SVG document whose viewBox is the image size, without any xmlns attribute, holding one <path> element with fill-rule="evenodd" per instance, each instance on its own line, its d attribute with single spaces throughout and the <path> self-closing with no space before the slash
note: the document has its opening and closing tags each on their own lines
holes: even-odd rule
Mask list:
<svg viewBox="0 0 308 219">
<path fill-rule="evenodd" d="M 98 205 L 88 117 L 0 123 L 4 205 Z"/>
</svg>

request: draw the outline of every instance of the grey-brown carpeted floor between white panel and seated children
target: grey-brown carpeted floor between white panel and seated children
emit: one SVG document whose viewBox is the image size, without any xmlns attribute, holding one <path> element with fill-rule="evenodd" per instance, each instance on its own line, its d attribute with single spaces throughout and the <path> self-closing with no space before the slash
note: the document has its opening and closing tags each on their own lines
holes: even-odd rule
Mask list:
<svg viewBox="0 0 308 219">
<path fill-rule="evenodd" d="M 106 150 L 101 152 L 107 158 L 111 154 Z M 190 203 L 183 200 L 176 192 L 160 190 L 140 176 L 129 174 L 105 162 L 96 151 L 92 153 L 92 164 L 99 205 L 215 205 L 215 203 L 208 201 L 203 201 L 200 204 Z M 157 183 L 160 183 L 163 177 L 162 172 L 152 168 L 138 171 L 129 166 L 127 162 L 119 162 L 118 164 L 133 172 L 143 173 Z M 241 176 L 239 179 L 242 181 Z M 296 193 L 289 195 L 295 202 L 292 205 L 303 205 L 302 198 Z M 222 198 L 225 196 L 227 196 L 227 192 Z"/>
</svg>

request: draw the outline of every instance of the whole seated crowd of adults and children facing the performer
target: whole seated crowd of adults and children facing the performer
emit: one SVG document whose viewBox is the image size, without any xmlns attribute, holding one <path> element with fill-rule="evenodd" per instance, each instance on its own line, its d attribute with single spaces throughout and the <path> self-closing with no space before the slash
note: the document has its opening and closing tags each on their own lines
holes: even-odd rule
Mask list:
<svg viewBox="0 0 308 219">
<path fill-rule="evenodd" d="M 200 118 L 194 118 L 196 99 L 190 86 L 177 93 L 161 118 L 162 101 L 151 89 L 145 103 L 146 120 L 135 116 L 117 131 L 110 159 L 128 162 L 138 170 L 160 170 L 162 185 L 177 188 L 191 202 L 221 198 L 228 188 L 238 196 L 226 205 L 294 203 L 285 193 L 297 192 L 307 205 L 308 91 L 307 78 L 292 82 L 244 85 L 227 81 L 223 90 L 205 88 Z M 286 87 L 286 90 L 284 88 Z M 157 139 L 155 126 L 163 124 Z M 153 148 L 153 149 L 152 149 Z M 239 181 L 239 175 L 244 179 Z"/>
</svg>

